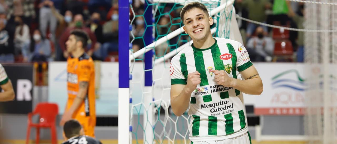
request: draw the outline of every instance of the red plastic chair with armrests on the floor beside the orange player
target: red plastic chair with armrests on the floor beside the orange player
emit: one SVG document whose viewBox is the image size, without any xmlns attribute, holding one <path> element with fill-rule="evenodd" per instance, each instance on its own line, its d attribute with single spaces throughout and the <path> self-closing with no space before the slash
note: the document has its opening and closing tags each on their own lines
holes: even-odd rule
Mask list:
<svg viewBox="0 0 337 144">
<path fill-rule="evenodd" d="M 26 144 L 29 141 L 30 128 L 36 128 L 36 143 L 39 143 L 40 137 L 40 128 L 50 128 L 52 135 L 52 143 L 57 143 L 57 135 L 56 135 L 56 116 L 59 112 L 59 108 L 57 104 L 54 103 L 38 103 L 33 113 L 28 113 L 28 129 L 27 129 L 27 137 Z M 38 114 L 39 122 L 33 123 L 32 116 Z"/>
</svg>

